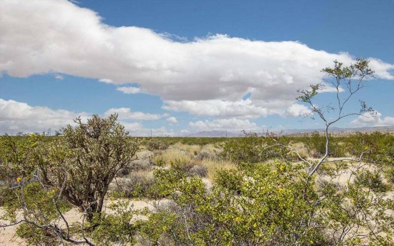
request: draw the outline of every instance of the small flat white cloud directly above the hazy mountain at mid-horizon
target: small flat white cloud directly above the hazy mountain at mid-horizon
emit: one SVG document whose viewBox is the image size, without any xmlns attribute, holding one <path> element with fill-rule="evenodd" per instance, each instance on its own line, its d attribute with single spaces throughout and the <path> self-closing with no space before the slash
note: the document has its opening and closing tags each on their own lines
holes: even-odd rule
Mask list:
<svg viewBox="0 0 394 246">
<path fill-rule="evenodd" d="M 241 119 L 217 119 L 213 121 L 190 122 L 189 127 L 197 131 L 232 130 L 232 131 L 258 131 L 261 130 L 256 123 Z"/>
</svg>

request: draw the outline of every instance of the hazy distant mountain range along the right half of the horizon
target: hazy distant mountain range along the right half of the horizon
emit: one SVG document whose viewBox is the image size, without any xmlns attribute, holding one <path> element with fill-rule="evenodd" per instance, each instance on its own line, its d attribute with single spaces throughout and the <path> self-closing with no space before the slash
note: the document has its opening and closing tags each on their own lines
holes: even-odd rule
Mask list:
<svg viewBox="0 0 394 246">
<path fill-rule="evenodd" d="M 311 133 L 314 131 L 324 131 L 323 128 L 321 129 L 286 129 L 283 130 L 281 135 L 299 135 L 305 133 Z M 373 131 L 380 131 L 380 132 L 394 132 L 394 125 L 393 126 L 374 126 L 374 127 L 354 127 L 354 128 L 339 128 L 339 127 L 332 127 L 330 128 L 330 133 L 333 135 L 348 135 L 355 132 L 373 132 Z M 279 131 L 274 131 L 279 132 Z M 261 133 L 261 132 L 260 132 Z M 241 137 L 243 133 L 241 131 L 226 131 L 226 130 L 213 130 L 213 131 L 199 131 L 196 133 L 184 135 L 184 137 Z"/>
</svg>

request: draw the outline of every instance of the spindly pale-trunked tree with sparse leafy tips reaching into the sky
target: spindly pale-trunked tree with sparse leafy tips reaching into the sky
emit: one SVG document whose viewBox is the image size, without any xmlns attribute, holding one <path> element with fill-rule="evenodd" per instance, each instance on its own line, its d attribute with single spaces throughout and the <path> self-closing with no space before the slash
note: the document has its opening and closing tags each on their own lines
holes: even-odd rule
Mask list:
<svg viewBox="0 0 394 246">
<path fill-rule="evenodd" d="M 322 163 L 332 162 L 331 160 L 327 160 L 329 153 L 329 128 L 332 124 L 337 123 L 338 121 L 350 117 L 350 116 L 362 116 L 362 117 L 373 117 L 376 115 L 376 111 L 371 107 L 367 107 L 364 101 L 360 100 L 360 110 L 358 112 L 346 112 L 345 106 L 349 102 L 349 100 L 354 97 L 355 93 L 359 92 L 364 87 L 364 80 L 368 77 L 374 77 L 375 72 L 369 67 L 369 61 L 358 58 L 355 64 L 351 64 L 349 66 L 344 66 L 342 62 L 334 61 L 334 67 L 326 67 L 322 70 L 325 72 L 327 77 L 326 82 L 330 83 L 336 91 L 336 97 L 334 99 L 335 105 L 325 105 L 319 106 L 315 101 L 315 96 L 325 89 L 324 83 L 318 83 L 315 85 L 310 85 L 310 89 L 308 90 L 298 90 L 299 96 L 296 98 L 298 101 L 306 103 L 309 105 L 310 112 L 305 114 L 305 118 L 314 119 L 315 115 L 324 122 L 324 135 L 326 138 L 326 150 L 323 157 L 321 157 L 317 162 L 312 162 L 303 158 L 294 148 L 289 145 L 284 145 L 280 143 L 275 134 L 267 133 L 267 136 L 275 141 L 274 145 L 268 146 L 264 148 L 264 150 L 272 148 L 272 147 L 282 147 L 289 149 L 293 154 L 303 161 L 304 163 L 309 165 L 308 176 L 312 176 L 319 168 Z M 329 120 L 328 115 L 334 115 L 334 118 Z M 368 150 L 360 153 L 358 158 L 342 158 L 340 160 L 348 160 L 348 161 L 361 161 L 363 155 Z M 339 160 L 335 160 L 339 161 Z"/>
</svg>

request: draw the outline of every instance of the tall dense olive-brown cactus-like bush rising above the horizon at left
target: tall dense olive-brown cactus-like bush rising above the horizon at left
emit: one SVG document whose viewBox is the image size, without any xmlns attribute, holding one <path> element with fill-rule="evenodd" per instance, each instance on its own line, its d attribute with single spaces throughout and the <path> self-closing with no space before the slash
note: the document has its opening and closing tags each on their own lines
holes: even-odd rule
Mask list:
<svg viewBox="0 0 394 246">
<path fill-rule="evenodd" d="M 64 137 L 50 145 L 42 168 L 42 180 L 49 185 L 60 186 L 66 180 L 63 195 L 87 213 L 88 221 L 101 212 L 109 184 L 139 150 L 138 141 L 116 120 L 117 115 L 94 115 L 87 123 L 76 119 L 77 126 L 66 126 Z"/>
</svg>

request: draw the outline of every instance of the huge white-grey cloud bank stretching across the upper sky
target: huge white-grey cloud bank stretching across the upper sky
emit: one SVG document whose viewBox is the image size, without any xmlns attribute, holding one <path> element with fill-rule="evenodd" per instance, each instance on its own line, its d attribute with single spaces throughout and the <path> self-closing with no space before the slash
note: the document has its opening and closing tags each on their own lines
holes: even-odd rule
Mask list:
<svg viewBox="0 0 394 246">
<path fill-rule="evenodd" d="M 281 114 L 295 102 L 296 89 L 322 80 L 322 67 L 333 60 L 355 62 L 347 53 L 295 41 L 223 34 L 174 41 L 146 28 L 106 25 L 98 13 L 66 0 L 2 1 L 0 33 L 0 71 L 10 76 L 55 72 L 138 83 L 143 92 L 159 95 L 168 109 L 196 113 L 179 103 L 209 107 L 218 102 L 214 110 L 200 111 L 217 117 Z M 370 60 L 378 78 L 394 79 L 394 64 Z M 249 101 L 242 100 L 247 93 Z"/>
</svg>

